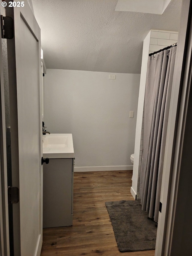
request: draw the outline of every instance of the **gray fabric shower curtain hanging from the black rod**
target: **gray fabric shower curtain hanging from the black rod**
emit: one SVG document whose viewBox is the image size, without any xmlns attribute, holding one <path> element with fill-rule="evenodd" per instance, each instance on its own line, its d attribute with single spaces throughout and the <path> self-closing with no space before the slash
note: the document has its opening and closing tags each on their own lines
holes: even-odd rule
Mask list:
<svg viewBox="0 0 192 256">
<path fill-rule="evenodd" d="M 158 222 L 176 46 L 148 59 L 140 171 L 142 209 Z"/>
</svg>

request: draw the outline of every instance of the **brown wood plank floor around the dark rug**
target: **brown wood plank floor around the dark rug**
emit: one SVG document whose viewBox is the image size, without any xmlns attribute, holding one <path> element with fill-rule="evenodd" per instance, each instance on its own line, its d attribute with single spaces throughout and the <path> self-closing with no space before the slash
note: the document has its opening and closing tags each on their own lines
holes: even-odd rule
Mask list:
<svg viewBox="0 0 192 256">
<path fill-rule="evenodd" d="M 155 251 L 119 252 L 105 207 L 107 201 L 134 200 L 131 177 L 132 171 L 74 173 L 73 226 L 45 228 L 41 256 L 154 256 Z"/>
</svg>

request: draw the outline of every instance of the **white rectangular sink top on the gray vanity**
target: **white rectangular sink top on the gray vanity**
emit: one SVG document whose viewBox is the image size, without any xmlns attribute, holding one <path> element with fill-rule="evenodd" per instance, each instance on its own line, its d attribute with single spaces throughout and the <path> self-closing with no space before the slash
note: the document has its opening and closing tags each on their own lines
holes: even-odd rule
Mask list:
<svg viewBox="0 0 192 256">
<path fill-rule="evenodd" d="M 74 158 L 72 134 L 43 135 L 43 157 Z"/>
</svg>

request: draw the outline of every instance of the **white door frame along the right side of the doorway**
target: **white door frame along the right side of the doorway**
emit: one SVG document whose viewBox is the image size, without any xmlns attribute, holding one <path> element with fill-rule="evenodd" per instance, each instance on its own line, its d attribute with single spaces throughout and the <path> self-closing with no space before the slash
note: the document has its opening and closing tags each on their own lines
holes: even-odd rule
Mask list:
<svg viewBox="0 0 192 256">
<path fill-rule="evenodd" d="M 188 109 L 188 93 L 190 90 L 191 68 L 191 0 L 183 0 L 180 17 L 179 38 L 176 53 L 176 62 L 173 75 L 173 86 L 170 102 L 170 112 L 167 127 L 167 139 L 165 146 L 164 169 L 161 186 L 162 203 L 159 212 L 158 230 L 155 255 L 167 256 L 172 246 L 179 243 L 173 241 L 174 219 L 178 198 L 183 196 L 179 190 L 179 180 L 184 178 L 181 165 L 184 149 L 184 132 L 186 129 L 186 113 Z M 190 142 L 190 140 L 188 141 Z M 186 143 L 186 142 L 185 142 Z M 190 170 L 190 169 L 189 169 Z M 185 195 L 186 197 L 186 195 Z M 182 230 L 182 226 L 181 230 Z M 174 254 L 176 255 L 176 254 Z"/>
</svg>

